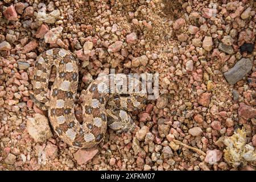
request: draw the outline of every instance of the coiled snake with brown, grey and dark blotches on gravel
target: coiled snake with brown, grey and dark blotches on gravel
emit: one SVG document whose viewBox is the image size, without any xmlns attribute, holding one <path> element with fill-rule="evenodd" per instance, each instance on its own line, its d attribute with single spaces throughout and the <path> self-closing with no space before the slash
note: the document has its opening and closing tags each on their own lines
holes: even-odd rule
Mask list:
<svg viewBox="0 0 256 182">
<path fill-rule="evenodd" d="M 107 127 L 117 133 L 133 131 L 136 125 L 130 113 L 141 109 L 147 100 L 145 93 L 135 89 L 141 88 L 141 81 L 123 73 L 98 76 L 80 93 L 80 123 L 75 116 L 78 62 L 74 53 L 63 48 L 48 49 L 36 57 L 30 97 L 39 109 L 47 111 L 57 136 L 69 146 L 92 148 L 105 138 Z M 56 77 L 49 89 L 53 66 Z"/>
</svg>

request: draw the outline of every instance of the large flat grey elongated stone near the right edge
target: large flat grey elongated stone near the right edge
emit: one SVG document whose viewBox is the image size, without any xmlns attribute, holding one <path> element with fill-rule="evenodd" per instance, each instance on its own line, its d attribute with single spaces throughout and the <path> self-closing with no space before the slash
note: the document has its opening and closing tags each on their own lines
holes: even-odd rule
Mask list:
<svg viewBox="0 0 256 182">
<path fill-rule="evenodd" d="M 251 63 L 249 58 L 242 58 L 241 60 L 237 61 L 233 68 L 224 73 L 224 77 L 230 85 L 234 85 L 238 81 L 242 80 L 242 78 L 250 72 L 252 67 L 253 63 Z"/>
</svg>

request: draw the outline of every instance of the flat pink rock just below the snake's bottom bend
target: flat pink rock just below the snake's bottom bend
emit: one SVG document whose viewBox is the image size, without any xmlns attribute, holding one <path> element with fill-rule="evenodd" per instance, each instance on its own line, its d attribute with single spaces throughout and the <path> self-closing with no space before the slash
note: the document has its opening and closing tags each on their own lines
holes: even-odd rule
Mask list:
<svg viewBox="0 0 256 182">
<path fill-rule="evenodd" d="M 92 159 L 98 153 L 98 149 L 83 150 L 79 149 L 75 154 L 74 158 L 76 159 L 79 165 L 86 164 L 90 159 Z"/>
</svg>

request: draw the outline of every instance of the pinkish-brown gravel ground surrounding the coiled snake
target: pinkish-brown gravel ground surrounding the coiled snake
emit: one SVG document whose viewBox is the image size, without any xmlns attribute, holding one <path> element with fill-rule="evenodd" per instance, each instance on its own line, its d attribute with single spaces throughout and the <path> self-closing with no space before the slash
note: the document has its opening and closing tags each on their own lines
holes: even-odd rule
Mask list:
<svg viewBox="0 0 256 182">
<path fill-rule="evenodd" d="M 218 142 L 243 127 L 246 143 L 256 146 L 255 6 L 249 0 L 1 1 L 0 170 L 255 170 L 255 160 L 232 166 Z M 69 147 L 29 97 L 36 56 L 53 47 L 79 58 L 79 92 L 115 68 L 159 72 L 160 97 L 132 113 L 132 134 L 108 130 L 91 150 Z M 75 109 L 81 120 L 79 101 Z M 41 122 L 34 126 L 31 117 Z"/>
</svg>

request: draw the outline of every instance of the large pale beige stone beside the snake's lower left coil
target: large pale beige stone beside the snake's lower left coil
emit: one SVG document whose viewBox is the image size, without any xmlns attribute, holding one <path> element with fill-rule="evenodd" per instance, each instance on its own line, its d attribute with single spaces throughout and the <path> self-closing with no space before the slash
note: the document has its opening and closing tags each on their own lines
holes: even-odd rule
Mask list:
<svg viewBox="0 0 256 182">
<path fill-rule="evenodd" d="M 27 131 L 35 142 L 44 142 L 52 137 L 48 119 L 41 114 L 35 114 L 34 118 L 27 119 Z"/>
</svg>

